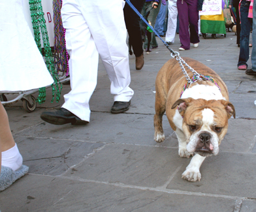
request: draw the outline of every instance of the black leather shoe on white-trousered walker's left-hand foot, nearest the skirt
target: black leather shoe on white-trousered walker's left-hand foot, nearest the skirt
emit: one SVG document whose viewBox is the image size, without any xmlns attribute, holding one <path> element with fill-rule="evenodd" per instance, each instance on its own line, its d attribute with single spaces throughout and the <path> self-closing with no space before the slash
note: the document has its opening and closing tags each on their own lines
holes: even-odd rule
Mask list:
<svg viewBox="0 0 256 212">
<path fill-rule="evenodd" d="M 65 125 L 68 123 L 71 123 L 72 125 L 86 125 L 89 123 L 88 121 L 79 119 L 79 117 L 63 107 L 54 111 L 42 112 L 40 117 L 52 125 Z"/>
</svg>

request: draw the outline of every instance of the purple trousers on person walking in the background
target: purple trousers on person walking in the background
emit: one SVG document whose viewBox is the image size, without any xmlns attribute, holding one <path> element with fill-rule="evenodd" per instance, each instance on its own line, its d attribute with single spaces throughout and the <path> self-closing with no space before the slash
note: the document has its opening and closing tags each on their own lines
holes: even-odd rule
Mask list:
<svg viewBox="0 0 256 212">
<path fill-rule="evenodd" d="M 190 43 L 200 42 L 198 36 L 199 16 L 197 10 L 197 1 L 177 0 L 177 9 L 179 15 L 180 47 L 188 50 L 190 49 Z"/>
</svg>

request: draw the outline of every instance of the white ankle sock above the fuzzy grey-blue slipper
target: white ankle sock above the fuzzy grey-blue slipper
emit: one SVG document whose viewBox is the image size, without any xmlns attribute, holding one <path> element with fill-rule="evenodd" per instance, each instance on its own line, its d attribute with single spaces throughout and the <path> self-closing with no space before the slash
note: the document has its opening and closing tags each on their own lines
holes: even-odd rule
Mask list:
<svg viewBox="0 0 256 212">
<path fill-rule="evenodd" d="M 17 170 L 23 162 L 17 144 L 13 148 L 2 152 L 2 165 L 10 167 L 12 170 Z"/>
</svg>

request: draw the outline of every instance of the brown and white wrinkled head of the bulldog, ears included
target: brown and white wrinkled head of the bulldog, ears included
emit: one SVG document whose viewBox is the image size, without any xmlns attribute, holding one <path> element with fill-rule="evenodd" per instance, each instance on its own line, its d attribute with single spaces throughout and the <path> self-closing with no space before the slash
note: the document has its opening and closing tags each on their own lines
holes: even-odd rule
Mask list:
<svg viewBox="0 0 256 212">
<path fill-rule="evenodd" d="M 183 116 L 187 151 L 201 156 L 217 155 L 220 142 L 227 133 L 228 119 L 236 116 L 234 106 L 225 100 L 187 98 L 177 102 Z"/>
</svg>

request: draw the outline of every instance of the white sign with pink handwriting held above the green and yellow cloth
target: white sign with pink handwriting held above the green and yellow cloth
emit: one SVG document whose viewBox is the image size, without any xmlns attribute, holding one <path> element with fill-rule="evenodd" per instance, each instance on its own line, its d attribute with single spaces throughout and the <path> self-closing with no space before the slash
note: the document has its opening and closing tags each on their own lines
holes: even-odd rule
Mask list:
<svg viewBox="0 0 256 212">
<path fill-rule="evenodd" d="M 222 0 L 204 0 L 203 10 L 199 15 L 221 15 Z"/>
</svg>

